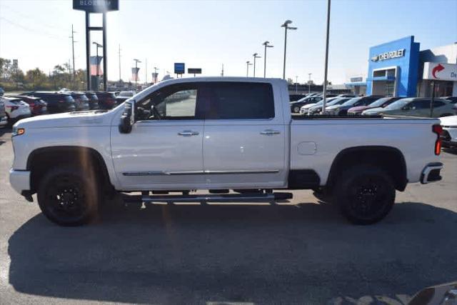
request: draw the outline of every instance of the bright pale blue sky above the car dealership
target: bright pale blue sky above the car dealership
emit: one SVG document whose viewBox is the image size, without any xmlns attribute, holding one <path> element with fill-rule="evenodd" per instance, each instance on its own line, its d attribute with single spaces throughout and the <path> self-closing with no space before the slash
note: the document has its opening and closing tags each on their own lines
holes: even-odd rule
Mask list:
<svg viewBox="0 0 457 305">
<path fill-rule="evenodd" d="M 0 0 L 0 56 L 19 59 L 21 69 L 49 71 L 71 58 L 69 35 L 74 24 L 76 69 L 85 66 L 84 13 L 71 1 Z M 108 76 L 130 77 L 133 59 L 141 59 L 140 78 L 152 67 L 159 78 L 174 62 L 202 68 L 204 75 L 246 76 L 246 61 L 268 49 L 267 76 L 281 77 L 283 29 L 288 32 L 286 77 L 306 81 L 308 73 L 323 81 L 326 1 L 148 1 L 119 0 L 120 10 L 108 14 Z M 348 76 L 366 73 L 368 48 L 414 35 L 421 49 L 457 41 L 457 0 L 332 0 L 328 79 L 341 84 Z M 98 24 L 94 16 L 94 24 Z M 101 43 L 101 35 L 93 40 Z M 95 50 L 93 50 L 95 54 Z M 252 75 L 252 67 L 251 67 Z M 256 76 L 263 76 L 263 58 Z"/>
</svg>

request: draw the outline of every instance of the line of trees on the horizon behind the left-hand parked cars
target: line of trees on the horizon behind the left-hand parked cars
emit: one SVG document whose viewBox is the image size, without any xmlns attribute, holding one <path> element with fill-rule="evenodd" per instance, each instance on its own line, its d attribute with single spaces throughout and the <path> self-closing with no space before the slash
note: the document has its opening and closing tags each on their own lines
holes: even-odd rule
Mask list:
<svg viewBox="0 0 457 305">
<path fill-rule="evenodd" d="M 46 74 L 39 68 L 24 73 L 17 61 L 0 57 L 0 87 L 5 91 L 21 90 L 59 90 L 68 88 L 84 90 L 86 88 L 86 70 L 78 69 L 73 74 L 67 63 L 57 64 Z"/>
</svg>

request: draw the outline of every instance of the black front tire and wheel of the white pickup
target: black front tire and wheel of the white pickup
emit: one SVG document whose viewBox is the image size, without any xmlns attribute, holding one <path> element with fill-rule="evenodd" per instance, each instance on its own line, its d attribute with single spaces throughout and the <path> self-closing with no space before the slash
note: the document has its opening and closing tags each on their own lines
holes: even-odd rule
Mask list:
<svg viewBox="0 0 457 305">
<path fill-rule="evenodd" d="M 96 215 L 100 193 L 93 169 L 61 166 L 44 174 L 37 197 L 49 220 L 61 226 L 81 226 Z"/>
</svg>

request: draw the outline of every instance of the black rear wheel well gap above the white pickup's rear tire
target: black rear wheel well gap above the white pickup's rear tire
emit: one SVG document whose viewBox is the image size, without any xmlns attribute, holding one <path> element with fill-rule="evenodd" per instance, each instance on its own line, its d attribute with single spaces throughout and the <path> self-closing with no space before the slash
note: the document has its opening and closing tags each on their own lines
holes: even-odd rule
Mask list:
<svg viewBox="0 0 457 305">
<path fill-rule="evenodd" d="M 327 186 L 332 188 L 342 171 L 360 164 L 380 167 L 391 176 L 398 191 L 406 188 L 408 179 L 405 158 L 401 151 L 390 146 L 358 146 L 343 149 L 333 160 Z"/>
</svg>

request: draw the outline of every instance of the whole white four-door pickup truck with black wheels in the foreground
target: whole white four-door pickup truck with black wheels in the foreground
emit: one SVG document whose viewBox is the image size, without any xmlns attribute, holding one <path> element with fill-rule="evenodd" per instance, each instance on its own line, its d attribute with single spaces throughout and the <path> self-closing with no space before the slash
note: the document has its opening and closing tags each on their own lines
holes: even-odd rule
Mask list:
<svg viewBox="0 0 457 305">
<path fill-rule="evenodd" d="M 36 193 L 41 211 L 66 226 L 88 222 L 106 194 L 291 198 L 279 189 L 325 191 L 351 222 L 372 224 L 391 210 L 396 190 L 441 179 L 440 132 L 437 119 L 293 118 L 281 79 L 173 79 L 111 111 L 19 121 L 10 182 L 29 201 Z"/>
</svg>

